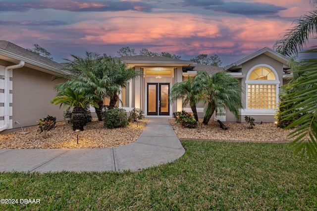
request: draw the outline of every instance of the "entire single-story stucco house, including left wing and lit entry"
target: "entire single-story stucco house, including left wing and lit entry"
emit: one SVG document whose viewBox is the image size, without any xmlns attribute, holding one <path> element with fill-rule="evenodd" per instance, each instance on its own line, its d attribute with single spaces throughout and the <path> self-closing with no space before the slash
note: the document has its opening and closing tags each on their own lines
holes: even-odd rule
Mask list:
<svg viewBox="0 0 317 211">
<path fill-rule="evenodd" d="M 192 61 L 161 56 L 125 56 L 118 58 L 143 76 L 128 82 L 119 94 L 118 106 L 131 111 L 141 108 L 146 117 L 172 117 L 175 111 L 191 112 L 182 100 L 169 103 L 168 94 L 177 82 L 193 77 L 199 71 L 210 75 L 226 71 L 241 82 L 243 108 L 237 120 L 229 111 L 219 112 L 214 118 L 224 122 L 244 122 L 252 116 L 256 122 L 274 122 L 280 86 L 287 83 L 285 71 L 288 60 L 270 48 L 263 48 L 225 68 L 195 64 Z M 11 42 L 0 41 L 0 131 L 34 126 L 47 115 L 63 120 L 63 110 L 50 101 L 55 75 L 62 74 L 62 65 Z M 199 117 L 204 116 L 204 105 L 197 106 Z M 93 115 L 95 110 L 91 109 Z"/>
</svg>

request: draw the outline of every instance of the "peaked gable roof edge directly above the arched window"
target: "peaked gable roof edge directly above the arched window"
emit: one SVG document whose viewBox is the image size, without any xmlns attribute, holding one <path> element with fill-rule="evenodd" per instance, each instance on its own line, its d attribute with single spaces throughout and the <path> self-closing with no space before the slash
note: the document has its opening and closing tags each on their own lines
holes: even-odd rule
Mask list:
<svg viewBox="0 0 317 211">
<path fill-rule="evenodd" d="M 232 63 L 231 65 L 228 65 L 226 66 L 224 69 L 226 71 L 231 71 L 231 70 L 237 70 L 237 69 L 240 69 L 241 68 L 241 65 L 261 54 L 264 54 L 266 56 L 269 56 L 271 57 L 272 59 L 275 59 L 276 61 L 279 61 L 280 63 L 284 64 L 285 66 L 289 66 L 289 60 L 286 56 L 283 56 L 282 54 L 272 50 L 271 48 L 269 47 L 264 47 L 262 48 L 261 50 L 235 62 L 235 63 Z"/>
</svg>

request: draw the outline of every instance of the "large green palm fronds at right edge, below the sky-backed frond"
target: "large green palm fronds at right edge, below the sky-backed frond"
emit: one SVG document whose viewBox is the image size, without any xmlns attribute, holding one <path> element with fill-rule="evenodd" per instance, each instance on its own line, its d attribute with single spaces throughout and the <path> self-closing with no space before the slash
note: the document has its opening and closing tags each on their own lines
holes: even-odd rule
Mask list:
<svg viewBox="0 0 317 211">
<path fill-rule="evenodd" d="M 317 53 L 315 49 L 306 51 Z M 305 65 L 299 66 L 294 73 L 302 75 L 300 81 L 288 85 L 291 89 L 285 95 L 286 105 L 293 105 L 291 109 L 282 112 L 285 119 L 296 119 L 285 128 L 297 127 L 289 135 L 295 137 L 292 147 L 295 153 L 305 153 L 310 159 L 317 159 L 317 58 L 303 60 Z"/>
</svg>

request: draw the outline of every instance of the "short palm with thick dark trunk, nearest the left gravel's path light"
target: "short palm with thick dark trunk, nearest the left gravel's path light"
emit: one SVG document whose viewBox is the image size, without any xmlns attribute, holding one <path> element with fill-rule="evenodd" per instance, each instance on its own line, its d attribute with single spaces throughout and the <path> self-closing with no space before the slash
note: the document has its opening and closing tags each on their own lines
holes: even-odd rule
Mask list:
<svg viewBox="0 0 317 211">
<path fill-rule="evenodd" d="M 92 99 L 88 99 L 84 92 L 77 92 L 72 87 L 65 88 L 64 91 L 60 92 L 51 100 L 51 103 L 55 105 L 60 104 L 60 106 L 64 105 L 67 108 L 73 108 L 73 130 L 84 130 L 84 111 L 86 106 L 93 105 L 98 107 L 98 104 L 96 104 Z"/>
</svg>

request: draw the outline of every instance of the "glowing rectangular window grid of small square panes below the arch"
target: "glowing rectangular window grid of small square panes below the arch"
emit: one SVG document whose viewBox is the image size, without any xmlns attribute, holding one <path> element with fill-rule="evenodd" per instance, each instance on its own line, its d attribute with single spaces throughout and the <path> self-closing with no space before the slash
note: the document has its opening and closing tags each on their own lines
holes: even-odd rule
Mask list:
<svg viewBox="0 0 317 211">
<path fill-rule="evenodd" d="M 275 109 L 276 85 L 248 84 L 249 109 Z"/>
</svg>

